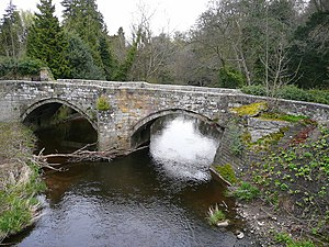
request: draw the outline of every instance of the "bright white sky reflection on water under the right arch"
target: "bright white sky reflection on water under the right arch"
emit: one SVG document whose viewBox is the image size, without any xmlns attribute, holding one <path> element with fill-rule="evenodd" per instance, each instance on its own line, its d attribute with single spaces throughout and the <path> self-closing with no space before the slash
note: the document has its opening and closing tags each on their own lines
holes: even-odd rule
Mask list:
<svg viewBox="0 0 329 247">
<path fill-rule="evenodd" d="M 169 177 L 183 180 L 208 180 L 218 141 L 204 136 L 195 119 L 177 116 L 166 120 L 160 131 L 152 133 L 150 154 Z"/>
</svg>

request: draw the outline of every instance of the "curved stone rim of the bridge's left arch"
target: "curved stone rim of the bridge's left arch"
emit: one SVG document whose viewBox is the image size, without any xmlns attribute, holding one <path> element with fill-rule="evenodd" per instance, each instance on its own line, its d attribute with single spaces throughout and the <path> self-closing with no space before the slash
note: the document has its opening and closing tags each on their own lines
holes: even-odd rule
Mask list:
<svg viewBox="0 0 329 247">
<path fill-rule="evenodd" d="M 75 110 L 77 113 L 79 113 L 83 119 L 86 119 L 91 126 L 98 132 L 98 124 L 95 121 L 93 121 L 88 114 L 86 114 L 84 111 L 82 111 L 80 108 L 78 108 L 77 105 L 66 101 L 66 100 L 61 100 L 59 98 L 48 98 L 48 99 L 43 99 L 39 100 L 33 104 L 31 104 L 24 112 L 23 114 L 21 114 L 21 120 L 22 122 L 24 122 L 29 115 L 31 113 L 33 113 L 35 110 L 42 108 L 43 105 L 47 105 L 47 104 L 60 104 L 60 105 L 66 105 L 69 106 L 70 109 Z"/>
</svg>

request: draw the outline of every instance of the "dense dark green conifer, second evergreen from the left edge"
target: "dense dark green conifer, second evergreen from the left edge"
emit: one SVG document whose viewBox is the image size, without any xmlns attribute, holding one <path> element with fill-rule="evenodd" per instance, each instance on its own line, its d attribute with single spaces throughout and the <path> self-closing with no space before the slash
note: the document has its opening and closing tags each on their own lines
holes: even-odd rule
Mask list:
<svg viewBox="0 0 329 247">
<path fill-rule="evenodd" d="M 35 13 L 35 22 L 29 30 L 27 55 L 46 63 L 55 78 L 64 78 L 69 72 L 65 56 L 68 42 L 54 14 L 55 5 L 52 0 L 41 0 L 37 9 L 39 13 Z"/>
</svg>

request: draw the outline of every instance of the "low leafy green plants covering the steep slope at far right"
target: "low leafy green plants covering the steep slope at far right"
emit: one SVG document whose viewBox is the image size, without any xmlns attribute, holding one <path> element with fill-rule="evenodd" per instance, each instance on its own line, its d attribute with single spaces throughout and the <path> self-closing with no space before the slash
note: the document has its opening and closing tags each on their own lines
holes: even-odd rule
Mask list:
<svg viewBox="0 0 329 247">
<path fill-rule="evenodd" d="M 276 210 L 288 201 L 285 210 L 292 211 L 300 222 L 307 221 L 305 231 L 328 240 L 329 130 L 316 128 L 314 124 L 298 123 L 298 126 L 281 149 L 269 151 L 262 161 L 253 165 L 252 180 Z M 311 142 L 307 138 L 310 131 L 317 136 Z"/>
</svg>

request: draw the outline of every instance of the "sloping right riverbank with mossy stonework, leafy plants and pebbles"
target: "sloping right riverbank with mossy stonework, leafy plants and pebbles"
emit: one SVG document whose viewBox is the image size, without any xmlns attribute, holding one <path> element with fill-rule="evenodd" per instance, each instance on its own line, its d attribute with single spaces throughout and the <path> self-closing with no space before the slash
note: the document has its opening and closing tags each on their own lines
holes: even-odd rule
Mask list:
<svg viewBox="0 0 329 247">
<path fill-rule="evenodd" d="M 272 113 L 243 117 L 229 125 L 213 170 L 231 184 L 247 234 L 263 246 L 328 246 L 329 123 Z M 256 121 L 280 127 L 254 139 L 260 132 L 252 136 L 246 123 Z M 230 160 L 223 162 L 223 154 Z"/>
</svg>

